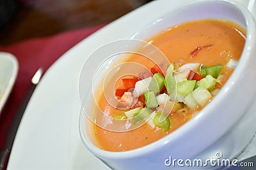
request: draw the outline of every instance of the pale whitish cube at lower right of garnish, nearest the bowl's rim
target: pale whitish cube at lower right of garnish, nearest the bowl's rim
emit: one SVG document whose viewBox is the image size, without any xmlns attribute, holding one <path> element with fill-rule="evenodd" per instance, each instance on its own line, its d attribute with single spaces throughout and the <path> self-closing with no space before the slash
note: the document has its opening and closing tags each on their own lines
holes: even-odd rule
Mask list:
<svg viewBox="0 0 256 170">
<path fill-rule="evenodd" d="M 196 88 L 193 92 L 193 97 L 195 98 L 195 101 L 200 105 L 204 106 L 209 99 L 211 99 L 211 93 L 205 89 L 204 87 L 200 86 Z"/>
</svg>

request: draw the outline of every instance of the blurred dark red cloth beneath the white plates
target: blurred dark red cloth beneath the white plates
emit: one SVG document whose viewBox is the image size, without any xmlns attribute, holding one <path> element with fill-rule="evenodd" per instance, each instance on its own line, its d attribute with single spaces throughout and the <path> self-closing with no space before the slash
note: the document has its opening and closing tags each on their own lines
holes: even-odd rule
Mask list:
<svg viewBox="0 0 256 170">
<path fill-rule="evenodd" d="M 12 53 L 19 62 L 17 80 L 0 116 L 0 150 L 4 147 L 8 128 L 31 85 L 31 78 L 36 70 L 43 67 L 46 71 L 63 53 L 103 26 L 98 25 L 47 38 L 29 39 L 14 45 L 0 46 L 1 52 Z"/>
</svg>

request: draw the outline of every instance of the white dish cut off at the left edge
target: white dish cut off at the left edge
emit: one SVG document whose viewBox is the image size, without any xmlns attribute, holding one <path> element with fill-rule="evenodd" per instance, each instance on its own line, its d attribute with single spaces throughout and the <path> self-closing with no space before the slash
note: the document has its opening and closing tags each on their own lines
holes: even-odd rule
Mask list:
<svg viewBox="0 0 256 170">
<path fill-rule="evenodd" d="M 18 73 L 17 59 L 11 54 L 0 52 L 0 115 Z"/>
</svg>

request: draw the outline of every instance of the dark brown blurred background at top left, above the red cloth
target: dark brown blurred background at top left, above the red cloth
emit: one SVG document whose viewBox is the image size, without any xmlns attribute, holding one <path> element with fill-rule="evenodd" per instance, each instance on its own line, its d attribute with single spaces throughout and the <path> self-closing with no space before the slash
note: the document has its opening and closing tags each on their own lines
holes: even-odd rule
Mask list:
<svg viewBox="0 0 256 170">
<path fill-rule="evenodd" d="M 145 3 L 148 0 L 0 0 L 0 7 L 8 5 L 10 13 L 15 9 L 0 29 L 0 45 L 106 24 Z"/>
</svg>

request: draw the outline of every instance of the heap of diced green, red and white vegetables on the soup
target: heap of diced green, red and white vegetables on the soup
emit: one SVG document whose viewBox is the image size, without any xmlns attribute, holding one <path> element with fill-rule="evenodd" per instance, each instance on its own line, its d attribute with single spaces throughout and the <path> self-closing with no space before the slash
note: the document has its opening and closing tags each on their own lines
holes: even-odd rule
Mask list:
<svg viewBox="0 0 256 170">
<path fill-rule="evenodd" d="M 221 80 L 220 77 L 223 74 L 220 74 L 220 71 L 223 65 L 200 66 L 200 63 L 182 63 L 175 67 L 172 63 L 164 78 L 161 69 L 155 65 L 150 68 L 150 71 L 154 73 L 152 77 L 143 80 L 136 77 L 123 78 L 124 87 L 116 89 L 116 96 L 122 96 L 119 100 L 120 104 L 131 110 L 113 115 L 113 117 L 121 120 L 134 118 L 134 124 L 145 120 L 151 123 L 150 127 L 168 131 L 170 113 L 186 114 L 185 112 L 189 109 L 204 106 L 220 90 L 217 80 Z M 134 91 L 128 92 L 131 88 L 134 88 Z M 146 119 L 153 113 L 153 110 L 156 110 L 154 118 Z M 164 117 L 161 117 L 161 114 Z M 164 121 L 160 122 L 160 119 Z"/>
</svg>

